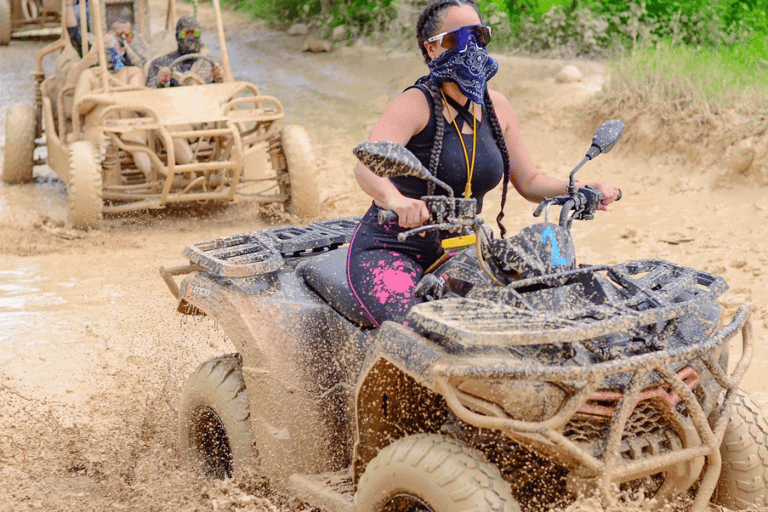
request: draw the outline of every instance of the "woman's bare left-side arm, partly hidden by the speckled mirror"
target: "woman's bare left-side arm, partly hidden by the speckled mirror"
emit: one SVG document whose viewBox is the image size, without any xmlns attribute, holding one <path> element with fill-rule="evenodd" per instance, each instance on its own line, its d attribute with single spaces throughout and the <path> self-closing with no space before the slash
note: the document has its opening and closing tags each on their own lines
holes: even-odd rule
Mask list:
<svg viewBox="0 0 768 512">
<path fill-rule="evenodd" d="M 371 130 L 368 140 L 391 141 L 405 146 L 429 121 L 429 103 L 417 89 L 408 89 L 387 107 Z M 381 208 L 397 213 L 403 228 L 420 226 L 429 219 L 423 201 L 403 196 L 389 180 L 376 176 L 361 162 L 355 166 L 355 178 L 360 188 L 373 197 Z"/>
</svg>

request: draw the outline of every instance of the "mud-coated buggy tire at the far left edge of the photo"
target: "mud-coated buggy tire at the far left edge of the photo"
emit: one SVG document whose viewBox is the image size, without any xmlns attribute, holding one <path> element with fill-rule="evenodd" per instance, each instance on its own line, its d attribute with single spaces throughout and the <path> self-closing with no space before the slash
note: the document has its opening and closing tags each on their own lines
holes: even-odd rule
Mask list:
<svg viewBox="0 0 768 512">
<path fill-rule="evenodd" d="M 0 0 L 0 4 L 5 0 Z M 1 10 L 1 9 L 0 9 Z M 15 185 L 32 181 L 35 164 L 35 109 L 9 107 L 5 117 L 3 181 Z"/>
</svg>

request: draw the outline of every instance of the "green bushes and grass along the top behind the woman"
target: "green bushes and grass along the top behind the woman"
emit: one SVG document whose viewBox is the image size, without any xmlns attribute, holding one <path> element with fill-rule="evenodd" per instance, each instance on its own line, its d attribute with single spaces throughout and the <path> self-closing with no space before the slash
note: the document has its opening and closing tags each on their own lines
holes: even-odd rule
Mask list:
<svg viewBox="0 0 768 512">
<path fill-rule="evenodd" d="M 427 0 L 225 0 L 278 26 L 402 36 Z M 478 0 L 493 51 L 606 59 L 606 99 L 672 111 L 768 109 L 765 0 Z M 405 40 L 408 38 L 398 37 Z M 409 41 L 410 42 L 410 41 Z M 618 107 L 618 105 L 617 105 Z"/>
</svg>

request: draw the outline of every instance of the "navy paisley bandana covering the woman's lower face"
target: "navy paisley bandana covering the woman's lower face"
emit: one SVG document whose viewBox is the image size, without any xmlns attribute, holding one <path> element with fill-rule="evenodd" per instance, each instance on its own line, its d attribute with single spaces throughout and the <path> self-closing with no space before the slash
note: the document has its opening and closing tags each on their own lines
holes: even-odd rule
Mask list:
<svg viewBox="0 0 768 512">
<path fill-rule="evenodd" d="M 462 94 L 479 105 L 484 103 L 488 80 L 499 70 L 499 63 L 477 44 L 475 36 L 469 36 L 460 52 L 446 50 L 427 66 L 432 80 L 437 83 L 454 82 Z"/>
</svg>

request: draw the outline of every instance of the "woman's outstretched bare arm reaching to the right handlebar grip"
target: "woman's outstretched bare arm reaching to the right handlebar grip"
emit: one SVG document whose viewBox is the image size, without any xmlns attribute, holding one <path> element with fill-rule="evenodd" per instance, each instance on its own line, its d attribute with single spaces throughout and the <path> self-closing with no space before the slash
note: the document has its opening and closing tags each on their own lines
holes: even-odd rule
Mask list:
<svg viewBox="0 0 768 512">
<path fill-rule="evenodd" d="M 545 197 L 553 197 L 565 194 L 568 191 L 568 180 L 552 178 L 539 172 L 528 153 L 528 148 L 523 142 L 523 135 L 520 132 L 520 123 L 517 120 L 512 105 L 503 94 L 497 91 L 490 91 L 493 106 L 496 109 L 496 115 L 504 131 L 504 140 L 507 143 L 509 151 L 509 181 L 515 187 L 518 193 L 528 201 L 538 203 Z M 612 203 L 619 197 L 619 189 L 602 181 L 580 183 L 580 186 L 590 185 L 598 189 L 605 200 L 601 209 Z"/>
</svg>

